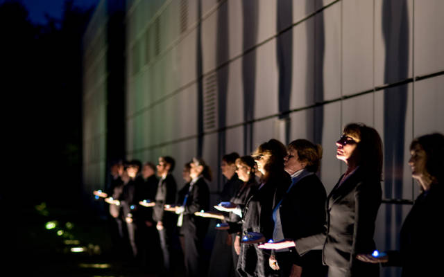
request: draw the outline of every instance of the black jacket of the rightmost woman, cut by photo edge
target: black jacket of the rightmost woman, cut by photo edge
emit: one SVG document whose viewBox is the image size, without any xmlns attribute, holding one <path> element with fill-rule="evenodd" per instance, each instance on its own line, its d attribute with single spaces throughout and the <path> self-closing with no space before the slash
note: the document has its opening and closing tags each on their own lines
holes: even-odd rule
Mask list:
<svg viewBox="0 0 444 277">
<path fill-rule="evenodd" d="M 402 277 L 438 276 L 443 262 L 443 184 L 421 193 L 402 224 L 400 251 L 388 251 L 388 265 L 402 267 Z"/>
</svg>

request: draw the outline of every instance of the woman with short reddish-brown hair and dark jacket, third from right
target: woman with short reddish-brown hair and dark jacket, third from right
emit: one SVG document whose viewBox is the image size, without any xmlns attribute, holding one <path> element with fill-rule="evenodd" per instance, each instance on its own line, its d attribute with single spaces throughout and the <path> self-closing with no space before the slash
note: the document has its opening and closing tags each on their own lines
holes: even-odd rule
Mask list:
<svg viewBox="0 0 444 277">
<path fill-rule="evenodd" d="M 284 159 L 285 171 L 291 176 L 291 186 L 282 199 L 276 199 L 273 209 L 275 227 L 273 240 L 305 238 L 321 233 L 325 224 L 327 193 L 316 172 L 321 163 L 322 147 L 306 139 L 292 141 Z M 293 248 L 273 250 L 270 267 L 280 276 L 325 277 L 321 250 L 311 250 L 299 257 Z"/>
</svg>

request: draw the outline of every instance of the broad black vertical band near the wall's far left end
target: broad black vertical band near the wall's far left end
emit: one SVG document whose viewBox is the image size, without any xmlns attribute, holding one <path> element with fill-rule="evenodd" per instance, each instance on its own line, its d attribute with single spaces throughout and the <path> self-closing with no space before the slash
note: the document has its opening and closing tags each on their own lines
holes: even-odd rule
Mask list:
<svg viewBox="0 0 444 277">
<path fill-rule="evenodd" d="M 110 163 L 125 158 L 125 1 L 108 3 L 108 71 L 106 93 L 106 184 L 110 185 Z"/>
</svg>

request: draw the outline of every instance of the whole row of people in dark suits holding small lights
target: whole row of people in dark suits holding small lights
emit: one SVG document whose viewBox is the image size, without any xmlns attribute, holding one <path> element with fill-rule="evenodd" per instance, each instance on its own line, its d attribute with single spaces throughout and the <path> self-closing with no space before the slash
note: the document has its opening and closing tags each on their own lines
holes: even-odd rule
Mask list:
<svg viewBox="0 0 444 277">
<path fill-rule="evenodd" d="M 155 193 L 151 190 L 151 195 L 142 195 L 134 186 L 133 199 L 129 199 L 126 195 L 130 193 L 126 192 L 130 189 L 117 186 L 112 199 L 108 198 L 110 213 L 111 206 L 117 203 L 112 201 L 118 199 L 125 222 L 132 224 L 138 217 L 133 215 L 132 205 L 152 207 L 151 224 L 158 232 L 166 275 L 171 274 L 169 254 L 175 230 L 180 232 L 186 276 L 379 276 L 377 262 L 388 260 L 409 268 L 404 270 L 404 276 L 409 276 L 405 272 L 420 272 L 423 265 L 427 269 L 422 272 L 429 272 L 437 267 L 431 262 L 437 258 L 430 254 L 436 253 L 431 243 L 435 237 L 422 243 L 423 238 L 418 235 L 438 229 L 423 230 L 415 224 L 421 222 L 432 228 L 438 222 L 427 213 L 438 209 L 437 199 L 443 196 L 439 185 L 444 169 L 443 145 L 441 134 L 422 136 L 411 145 L 409 164 L 423 193 L 412 208 L 415 216 L 407 217 L 409 228 L 402 229 L 404 243 L 415 244 L 402 247 L 401 255 L 393 251 L 383 258 L 368 255 L 376 249 L 373 235 L 382 202 L 382 141 L 375 129 L 363 124 L 347 125 L 336 141 L 336 157 L 345 162 L 347 170 L 328 196 L 316 175 L 321 164 L 321 145 L 298 139 L 286 147 L 271 139 L 259 145 L 252 155 L 239 157 L 232 153 L 223 157 L 221 171 L 227 183 L 219 198 L 221 203 L 214 207 L 218 212 L 210 208 L 207 181 L 211 180 L 211 170 L 205 161 L 194 158 L 185 165 L 189 179 L 177 193 L 176 201 L 176 181 L 171 175 L 174 160 L 161 157 L 157 164 L 161 179 Z M 421 208 L 416 208 L 419 203 Z M 149 213 L 150 209 L 137 208 L 139 211 Z M 205 217 L 221 220 L 216 226 L 209 271 L 200 263 L 210 222 Z M 128 226 L 131 241 L 130 230 Z M 153 241 L 153 235 L 142 233 Z M 428 253 L 422 253 L 422 265 L 418 267 L 409 254 L 420 250 Z M 224 264 L 229 265 L 225 266 L 228 271 L 221 268 Z"/>
</svg>

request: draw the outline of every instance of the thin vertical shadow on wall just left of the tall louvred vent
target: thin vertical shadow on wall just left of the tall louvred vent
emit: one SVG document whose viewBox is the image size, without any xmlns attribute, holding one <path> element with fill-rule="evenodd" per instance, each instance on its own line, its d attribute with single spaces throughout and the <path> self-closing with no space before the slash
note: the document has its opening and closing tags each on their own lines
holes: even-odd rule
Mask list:
<svg viewBox="0 0 444 277">
<path fill-rule="evenodd" d="M 196 35 L 196 76 L 197 81 L 197 156 L 203 152 L 203 60 L 202 60 L 202 1 L 197 1 L 197 35 Z"/>
</svg>

